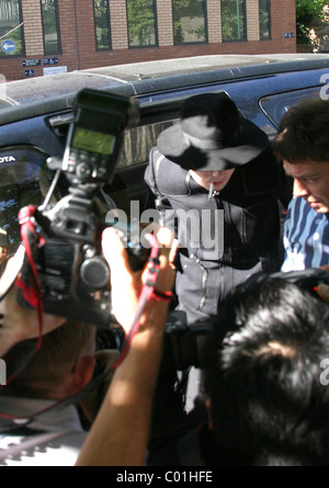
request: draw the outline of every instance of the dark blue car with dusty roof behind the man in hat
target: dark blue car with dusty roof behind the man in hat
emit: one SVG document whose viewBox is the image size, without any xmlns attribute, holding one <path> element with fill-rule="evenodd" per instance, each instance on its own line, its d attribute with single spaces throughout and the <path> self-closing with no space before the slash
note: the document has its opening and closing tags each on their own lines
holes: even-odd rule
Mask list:
<svg viewBox="0 0 329 488">
<path fill-rule="evenodd" d="M 42 204 L 61 166 L 73 103 L 82 89 L 134 99 L 139 121 L 124 130 L 123 150 L 102 197 L 134 217 L 152 206 L 144 181 L 150 148 L 174 124 L 182 102 L 225 91 L 241 113 L 274 137 L 283 113 L 302 98 L 329 97 L 329 55 L 200 56 L 73 71 L 0 84 L 1 239 L 20 242 L 18 213 Z M 53 158 L 53 167 L 46 163 Z M 55 161 L 55 162 L 54 162 Z M 83 170 L 86 167 L 82 164 Z M 55 200 L 68 191 L 58 175 Z M 137 211 L 136 211 L 137 208 Z M 77 230 L 78 231 L 78 230 Z"/>
</svg>

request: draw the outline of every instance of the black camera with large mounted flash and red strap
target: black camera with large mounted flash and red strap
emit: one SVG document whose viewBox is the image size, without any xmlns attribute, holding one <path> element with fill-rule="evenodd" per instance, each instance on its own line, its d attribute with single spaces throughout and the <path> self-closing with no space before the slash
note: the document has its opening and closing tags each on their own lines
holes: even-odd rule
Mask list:
<svg viewBox="0 0 329 488">
<path fill-rule="evenodd" d="M 54 186 L 57 174 L 64 171 L 68 194 L 52 205 L 47 195 L 42 206 L 20 212 L 21 225 L 29 222 L 32 226 L 27 226 L 31 252 L 22 268 L 19 303 L 32 305 L 26 290 L 35 286 L 35 266 L 45 313 L 107 327 L 115 320 L 111 314 L 110 269 L 101 248 L 102 232 L 110 225 L 105 223 L 110 208 L 102 198 L 102 188 L 113 180 L 124 129 L 138 121 L 138 105 L 121 94 L 84 89 L 76 98 L 73 114 L 63 160 L 47 161 L 57 170 Z M 141 269 L 149 249 L 131 240 L 138 231 L 114 223 L 132 268 Z"/>
</svg>

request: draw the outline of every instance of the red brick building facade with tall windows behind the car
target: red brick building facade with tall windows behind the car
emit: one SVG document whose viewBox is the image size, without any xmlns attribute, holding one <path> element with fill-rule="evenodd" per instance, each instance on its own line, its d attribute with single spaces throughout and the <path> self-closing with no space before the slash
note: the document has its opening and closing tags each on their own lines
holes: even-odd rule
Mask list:
<svg viewBox="0 0 329 488">
<path fill-rule="evenodd" d="M 7 3 L 5 3 L 7 2 Z M 21 32 L 20 53 L 13 49 L 11 33 L 7 34 L 4 12 L 1 4 L 9 3 L 16 8 L 20 18 L 10 24 L 13 33 Z M 135 2 L 135 3 L 134 3 Z M 138 37 L 129 37 L 129 11 L 143 4 L 154 9 L 155 32 L 149 45 L 134 45 Z M 120 65 L 137 61 L 170 59 L 198 55 L 214 54 L 275 54 L 295 53 L 295 0 L 191 0 L 197 8 L 195 14 L 196 27 L 190 29 L 192 16 L 173 19 L 178 10 L 173 10 L 179 0 L 0 0 L 0 73 L 8 80 L 22 79 L 27 76 L 43 76 L 49 72 L 72 71 L 107 65 Z M 238 35 L 241 38 L 225 38 L 227 20 L 223 19 L 223 4 L 227 8 L 240 9 L 240 16 L 228 19 L 232 24 L 243 21 L 243 29 L 239 25 Z M 265 4 L 268 11 L 266 36 L 262 38 L 261 10 Z M 54 25 L 57 33 L 56 48 L 45 48 L 45 18 L 48 5 L 54 8 Z M 109 46 L 98 48 L 98 29 L 95 26 L 95 5 L 102 15 L 100 35 L 109 34 Z M 107 9 L 107 10 L 104 10 Z M 202 15 L 200 14 L 202 10 Z M 131 10 L 132 12 L 132 10 Z M 133 10 L 134 12 L 134 10 Z M 137 12 L 136 12 L 137 13 Z M 13 13 L 11 16 L 13 18 Z M 226 13 L 225 13 L 226 15 Z M 136 15 L 137 18 L 137 15 Z M 107 25 L 104 24 L 106 19 Z M 131 16 L 132 19 L 132 16 Z M 188 22 L 184 27 L 183 21 Z M 18 23 L 19 22 L 19 23 Z M 133 21 L 132 21 L 133 22 Z M 141 22 L 141 21 L 140 21 Z M 174 23 L 177 22 L 177 23 Z M 204 22 L 204 24 L 202 24 Z M 21 24 L 20 27 L 16 25 Z M 55 25 L 56 24 L 56 25 Z M 183 26 L 183 27 L 182 27 Z M 192 42 L 178 42 L 178 30 L 185 29 L 183 35 L 192 32 Z M 7 30 L 7 31 L 5 31 Z M 2 35 L 1 35 L 2 34 Z M 7 34 L 7 35 L 5 35 Z M 52 34 L 53 35 L 53 34 Z M 234 36 L 235 34 L 232 34 Z M 50 37 L 49 37 L 50 38 Z M 200 41 L 201 38 L 201 41 Z M 132 41 L 133 39 L 133 41 Z M 135 41 L 134 41 L 135 39 Z M 7 43 L 5 43 L 7 41 Z M 138 44 L 138 41 L 137 41 Z M 53 65 L 53 68 L 52 66 Z M 50 71 L 50 68 L 53 69 Z"/>
</svg>

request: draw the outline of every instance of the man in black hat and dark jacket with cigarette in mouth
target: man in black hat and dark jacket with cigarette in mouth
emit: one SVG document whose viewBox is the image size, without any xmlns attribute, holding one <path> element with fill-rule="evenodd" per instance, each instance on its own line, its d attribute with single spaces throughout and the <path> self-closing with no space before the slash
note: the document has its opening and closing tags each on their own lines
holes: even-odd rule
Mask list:
<svg viewBox="0 0 329 488">
<path fill-rule="evenodd" d="M 145 180 L 161 224 L 178 222 L 177 308 L 208 320 L 249 275 L 280 269 L 277 202 L 291 189 L 268 136 L 225 92 L 188 99 L 157 144 Z"/>
</svg>

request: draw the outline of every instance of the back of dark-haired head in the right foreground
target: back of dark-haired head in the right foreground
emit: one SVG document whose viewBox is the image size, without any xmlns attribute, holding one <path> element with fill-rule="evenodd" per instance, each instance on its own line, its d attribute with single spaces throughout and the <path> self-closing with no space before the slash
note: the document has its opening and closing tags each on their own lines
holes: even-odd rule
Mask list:
<svg viewBox="0 0 329 488">
<path fill-rule="evenodd" d="M 218 464 L 329 464 L 328 319 L 328 304 L 282 280 L 225 300 L 203 351 Z"/>
</svg>

